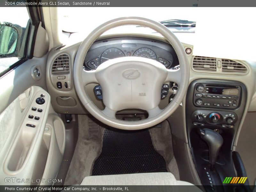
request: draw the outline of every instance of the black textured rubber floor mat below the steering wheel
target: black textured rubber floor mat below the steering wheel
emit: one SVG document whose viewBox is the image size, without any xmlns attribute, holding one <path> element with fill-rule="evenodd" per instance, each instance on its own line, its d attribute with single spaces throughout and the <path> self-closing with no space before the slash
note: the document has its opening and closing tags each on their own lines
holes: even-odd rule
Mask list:
<svg viewBox="0 0 256 192">
<path fill-rule="evenodd" d="M 92 175 L 167 172 L 166 161 L 153 147 L 149 131 L 104 131 Z"/>
</svg>

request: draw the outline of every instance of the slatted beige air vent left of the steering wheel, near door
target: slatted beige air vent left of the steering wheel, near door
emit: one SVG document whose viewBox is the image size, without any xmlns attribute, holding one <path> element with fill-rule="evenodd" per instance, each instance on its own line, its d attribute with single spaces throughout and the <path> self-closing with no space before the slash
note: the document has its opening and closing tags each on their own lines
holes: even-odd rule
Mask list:
<svg viewBox="0 0 256 192">
<path fill-rule="evenodd" d="M 69 57 L 67 54 L 58 56 L 52 64 L 52 73 L 69 72 Z"/>
</svg>

